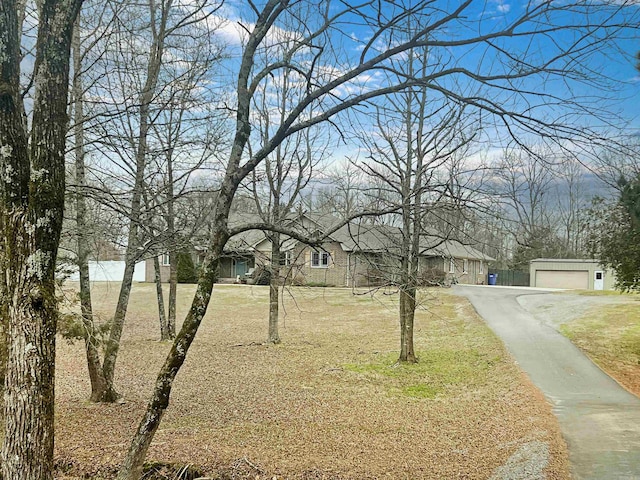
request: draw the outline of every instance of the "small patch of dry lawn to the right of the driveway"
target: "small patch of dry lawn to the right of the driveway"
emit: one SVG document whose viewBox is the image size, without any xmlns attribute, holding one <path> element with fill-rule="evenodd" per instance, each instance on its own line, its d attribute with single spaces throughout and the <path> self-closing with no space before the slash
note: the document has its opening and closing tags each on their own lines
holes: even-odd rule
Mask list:
<svg viewBox="0 0 640 480">
<path fill-rule="evenodd" d="M 640 300 L 637 295 L 629 295 Z M 561 327 L 562 333 L 582 349 L 618 383 L 640 396 L 640 305 L 599 306 Z"/>
</svg>

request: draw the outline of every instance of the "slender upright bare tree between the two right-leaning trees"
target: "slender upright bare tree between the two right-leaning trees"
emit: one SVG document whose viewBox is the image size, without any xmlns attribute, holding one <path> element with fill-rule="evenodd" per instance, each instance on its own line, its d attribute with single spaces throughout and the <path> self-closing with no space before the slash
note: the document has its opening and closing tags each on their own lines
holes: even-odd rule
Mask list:
<svg viewBox="0 0 640 480">
<path fill-rule="evenodd" d="M 198 230 L 200 215 L 191 221 L 182 222 L 178 218 L 176 203 L 192 193 L 191 176 L 207 159 L 216 154 L 222 119 L 209 103 L 211 98 L 199 92 L 206 87 L 213 66 L 219 61 L 221 52 L 211 48 L 207 35 L 192 38 L 188 49 L 183 45 L 179 67 L 173 66 L 168 79 L 163 81 L 163 91 L 159 95 L 162 107 L 152 124 L 152 137 L 156 146 L 150 156 L 155 172 L 149 188 L 153 189 L 156 205 L 149 205 L 150 211 L 158 211 L 164 223 L 163 237 L 169 256 L 169 315 L 163 325 L 161 340 L 171 340 L 176 333 L 176 295 L 178 283 L 178 256 L 180 249 L 188 248 L 185 238 Z M 172 65 L 165 65 L 165 70 Z M 156 100 L 156 102 L 158 102 Z M 194 113 L 196 112 L 196 113 Z M 153 238 L 153 236 L 152 236 Z M 157 255 L 154 265 L 157 264 Z M 156 266 L 156 277 L 159 272 Z M 162 290 L 158 290 L 159 309 Z M 162 305 L 163 307 L 163 305 Z"/>
</svg>

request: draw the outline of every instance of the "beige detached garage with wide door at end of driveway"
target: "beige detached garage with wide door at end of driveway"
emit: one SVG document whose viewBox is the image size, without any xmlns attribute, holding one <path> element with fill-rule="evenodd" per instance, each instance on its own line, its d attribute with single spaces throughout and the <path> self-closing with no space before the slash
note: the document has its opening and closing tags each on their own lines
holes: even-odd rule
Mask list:
<svg viewBox="0 0 640 480">
<path fill-rule="evenodd" d="M 531 286 L 580 290 L 613 290 L 611 272 L 597 260 L 537 258 L 529 266 Z"/>
</svg>

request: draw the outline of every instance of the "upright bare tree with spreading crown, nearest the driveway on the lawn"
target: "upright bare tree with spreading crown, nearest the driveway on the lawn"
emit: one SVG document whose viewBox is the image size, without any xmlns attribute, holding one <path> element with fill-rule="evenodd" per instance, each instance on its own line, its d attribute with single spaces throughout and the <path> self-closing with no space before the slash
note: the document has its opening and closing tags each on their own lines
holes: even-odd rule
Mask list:
<svg viewBox="0 0 640 480">
<path fill-rule="evenodd" d="M 409 33 L 415 28 L 413 22 L 420 23 L 410 19 Z M 391 82 L 424 78 L 431 61 L 427 49 L 408 50 L 402 61 L 392 62 L 399 78 Z M 442 203 L 461 203 L 462 195 L 452 187 L 447 172 L 454 168 L 457 151 L 471 140 L 465 130 L 473 117 L 466 113 L 462 104 L 432 100 L 426 86 L 407 88 L 377 106 L 374 135 L 363 139 L 369 150 L 365 171 L 385 186 L 388 201 L 398 207 L 400 238 L 384 263 L 400 295 L 400 362 L 417 361 L 413 329 L 422 251 L 437 247 L 452 228 L 459 229 L 448 224 L 444 236 L 434 238 L 425 229 L 424 217 Z"/>
</svg>

